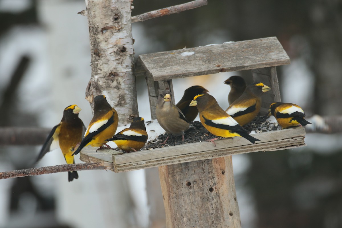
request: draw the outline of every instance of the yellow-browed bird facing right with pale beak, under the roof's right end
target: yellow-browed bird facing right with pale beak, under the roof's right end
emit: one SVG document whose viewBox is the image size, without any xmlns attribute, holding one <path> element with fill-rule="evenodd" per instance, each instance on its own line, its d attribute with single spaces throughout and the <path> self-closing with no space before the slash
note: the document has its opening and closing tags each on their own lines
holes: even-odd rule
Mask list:
<svg viewBox="0 0 342 228">
<path fill-rule="evenodd" d="M 227 114 L 241 126 L 251 122 L 260 111 L 261 95 L 269 90 L 271 88 L 261 82 L 248 85 L 245 92 L 226 109 Z"/>
</svg>

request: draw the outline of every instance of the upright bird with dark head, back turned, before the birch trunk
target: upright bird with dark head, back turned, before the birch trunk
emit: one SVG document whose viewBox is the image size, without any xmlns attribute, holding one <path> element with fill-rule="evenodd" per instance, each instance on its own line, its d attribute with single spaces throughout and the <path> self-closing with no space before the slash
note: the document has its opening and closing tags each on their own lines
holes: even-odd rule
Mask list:
<svg viewBox="0 0 342 228">
<path fill-rule="evenodd" d="M 107 102 L 105 95 L 98 95 L 94 98 L 94 116 L 90 121 L 86 134 L 80 146 L 73 155 L 77 155 L 83 147 L 91 145 L 99 149 L 110 148 L 106 139 L 113 137 L 118 128 L 118 113 Z M 106 147 L 104 147 L 105 145 Z M 97 149 L 98 150 L 98 149 Z"/>
</svg>

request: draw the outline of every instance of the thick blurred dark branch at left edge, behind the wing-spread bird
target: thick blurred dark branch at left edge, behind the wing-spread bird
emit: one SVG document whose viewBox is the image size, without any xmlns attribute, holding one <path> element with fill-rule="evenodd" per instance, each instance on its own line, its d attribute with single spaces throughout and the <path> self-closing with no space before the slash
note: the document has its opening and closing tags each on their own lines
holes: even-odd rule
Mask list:
<svg viewBox="0 0 342 228">
<path fill-rule="evenodd" d="M 48 128 L 0 128 L 0 146 L 43 145 L 50 131 Z"/>
</svg>

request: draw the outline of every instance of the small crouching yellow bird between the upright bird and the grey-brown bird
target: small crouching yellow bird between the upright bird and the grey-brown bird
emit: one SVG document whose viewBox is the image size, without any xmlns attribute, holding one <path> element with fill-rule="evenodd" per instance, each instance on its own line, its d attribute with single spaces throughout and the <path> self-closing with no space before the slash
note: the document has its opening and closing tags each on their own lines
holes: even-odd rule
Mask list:
<svg viewBox="0 0 342 228">
<path fill-rule="evenodd" d="M 133 118 L 129 128 L 123 129 L 119 133 L 106 141 L 113 141 L 125 152 L 138 151 L 145 145 L 147 141 L 147 132 L 144 118 Z"/>
</svg>

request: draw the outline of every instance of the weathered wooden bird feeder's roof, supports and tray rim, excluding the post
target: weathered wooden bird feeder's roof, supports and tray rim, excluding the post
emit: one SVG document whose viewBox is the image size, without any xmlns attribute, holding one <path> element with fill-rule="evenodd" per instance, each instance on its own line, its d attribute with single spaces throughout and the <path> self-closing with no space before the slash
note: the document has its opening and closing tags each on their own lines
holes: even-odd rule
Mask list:
<svg viewBox="0 0 342 228">
<path fill-rule="evenodd" d="M 184 52 L 194 54 L 184 57 Z M 173 92 L 172 79 L 251 69 L 254 82 L 262 82 L 271 88 L 271 91 L 262 95 L 260 114 L 266 115 L 271 103 L 281 101 L 276 66 L 289 63 L 290 58 L 278 39 L 269 37 L 140 55 L 135 64 L 135 75 L 146 78 L 151 116 L 156 119 L 158 95 L 163 90 Z M 264 132 L 253 136 L 261 141 L 251 144 L 244 138 L 235 137 L 216 140 L 216 147 L 211 142 L 198 142 L 138 151 L 134 152 L 134 156 L 132 153 L 118 154 L 114 150 L 96 152 L 84 149 L 81 160 L 113 162 L 114 172 L 123 172 L 305 145 L 304 128 Z"/>
</svg>

